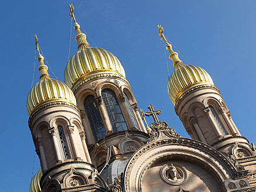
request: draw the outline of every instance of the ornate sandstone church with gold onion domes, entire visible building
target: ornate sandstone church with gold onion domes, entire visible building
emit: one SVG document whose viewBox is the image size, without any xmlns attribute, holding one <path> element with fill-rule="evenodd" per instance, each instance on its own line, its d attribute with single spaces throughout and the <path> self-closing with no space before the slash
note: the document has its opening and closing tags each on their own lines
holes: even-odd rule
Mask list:
<svg viewBox="0 0 256 192">
<path fill-rule="evenodd" d="M 192 139 L 139 114 L 120 61 L 91 47 L 70 5 L 78 51 L 64 83 L 50 78 L 38 50 L 40 81 L 28 95 L 29 128 L 40 170 L 30 192 L 256 191 L 256 148 L 241 136 L 209 74 L 183 64 L 163 35 L 174 71 L 168 92 Z M 154 119 L 144 126 L 144 115 Z"/>
</svg>

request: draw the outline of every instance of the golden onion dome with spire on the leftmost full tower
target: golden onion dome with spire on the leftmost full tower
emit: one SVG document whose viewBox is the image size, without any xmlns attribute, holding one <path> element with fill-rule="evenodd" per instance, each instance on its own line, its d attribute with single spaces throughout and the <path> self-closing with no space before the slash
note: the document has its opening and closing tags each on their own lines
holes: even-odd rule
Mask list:
<svg viewBox="0 0 256 192">
<path fill-rule="evenodd" d="M 38 48 L 37 50 L 39 51 Z M 26 102 L 28 115 L 30 116 L 35 109 L 49 102 L 63 101 L 76 105 L 76 98 L 70 88 L 61 81 L 50 78 L 47 72 L 48 67 L 43 63 L 44 59 L 40 52 L 37 59 L 40 63 L 38 70 L 41 76 L 40 81 L 32 87 L 28 94 Z"/>
</svg>

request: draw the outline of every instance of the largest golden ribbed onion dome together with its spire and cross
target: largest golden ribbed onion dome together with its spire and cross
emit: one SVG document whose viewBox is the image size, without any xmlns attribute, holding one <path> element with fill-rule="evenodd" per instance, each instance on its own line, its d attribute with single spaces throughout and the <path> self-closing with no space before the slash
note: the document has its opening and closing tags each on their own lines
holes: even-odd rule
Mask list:
<svg viewBox="0 0 256 192">
<path fill-rule="evenodd" d="M 102 77 L 104 73 L 109 73 L 111 76 L 117 75 L 125 78 L 124 68 L 117 57 L 107 50 L 90 47 L 86 40 L 86 35 L 81 32 L 80 25 L 76 22 L 73 11 L 74 7 L 70 5 L 70 16 L 74 20 L 74 29 L 77 33 L 78 52 L 67 61 L 64 71 L 64 83 L 73 90 L 84 77 L 95 75 Z"/>
</svg>

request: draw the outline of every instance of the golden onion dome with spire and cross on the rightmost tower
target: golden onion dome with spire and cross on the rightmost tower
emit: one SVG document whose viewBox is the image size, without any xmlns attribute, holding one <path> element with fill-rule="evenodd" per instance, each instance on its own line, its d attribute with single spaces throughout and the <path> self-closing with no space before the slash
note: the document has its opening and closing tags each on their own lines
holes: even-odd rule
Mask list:
<svg viewBox="0 0 256 192">
<path fill-rule="evenodd" d="M 169 50 L 169 58 L 173 61 L 174 71 L 169 78 L 168 94 L 173 104 L 176 104 L 180 96 L 190 88 L 200 84 L 214 85 L 213 80 L 203 68 L 193 66 L 191 64 L 183 64 L 178 57 L 178 53 L 173 52 L 172 46 L 168 43 L 163 35 L 162 26 L 158 25 L 161 40 L 166 43 L 166 49 Z"/>
</svg>

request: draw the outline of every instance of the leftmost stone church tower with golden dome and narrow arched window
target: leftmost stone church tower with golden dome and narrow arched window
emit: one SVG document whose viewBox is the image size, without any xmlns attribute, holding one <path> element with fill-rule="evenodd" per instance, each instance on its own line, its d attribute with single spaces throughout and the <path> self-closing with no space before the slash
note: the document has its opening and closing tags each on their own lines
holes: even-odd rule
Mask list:
<svg viewBox="0 0 256 192">
<path fill-rule="evenodd" d="M 76 98 L 66 84 L 50 78 L 35 39 L 40 81 L 28 94 L 27 109 L 43 175 L 36 174 L 41 176 L 40 187 L 37 182 L 30 191 L 78 191 L 78 186 L 83 191 L 105 191 L 104 180 L 91 164 Z"/>
</svg>

